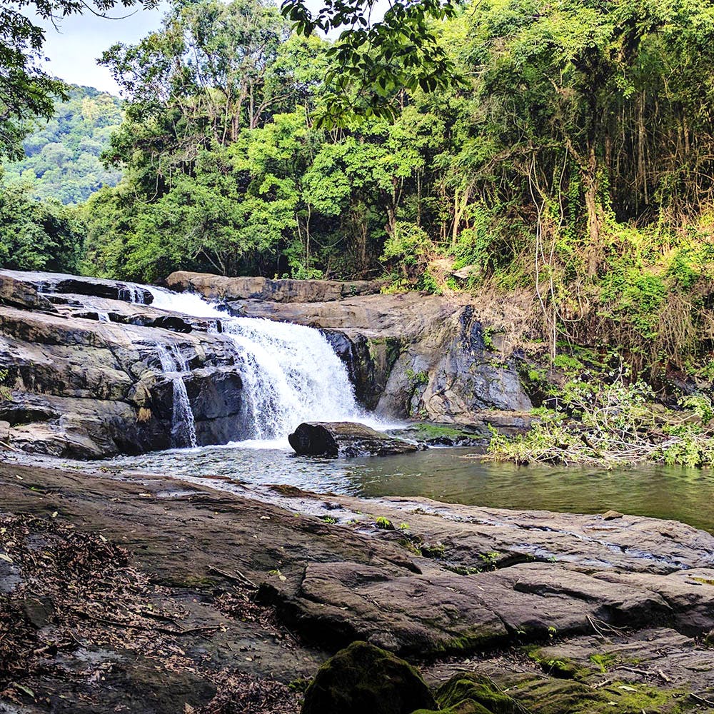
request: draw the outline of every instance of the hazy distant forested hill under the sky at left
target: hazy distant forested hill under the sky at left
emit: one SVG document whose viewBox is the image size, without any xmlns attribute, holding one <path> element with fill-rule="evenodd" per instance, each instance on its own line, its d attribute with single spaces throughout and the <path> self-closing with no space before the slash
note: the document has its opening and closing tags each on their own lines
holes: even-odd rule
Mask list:
<svg viewBox="0 0 714 714">
<path fill-rule="evenodd" d="M 54 118 L 38 120 L 24 141 L 26 158 L 4 165 L 9 183 L 30 186 L 35 198 L 81 203 L 102 186 L 116 186 L 121 172 L 102 166 L 99 155 L 123 119 L 121 100 L 92 87 L 72 86 Z"/>
</svg>

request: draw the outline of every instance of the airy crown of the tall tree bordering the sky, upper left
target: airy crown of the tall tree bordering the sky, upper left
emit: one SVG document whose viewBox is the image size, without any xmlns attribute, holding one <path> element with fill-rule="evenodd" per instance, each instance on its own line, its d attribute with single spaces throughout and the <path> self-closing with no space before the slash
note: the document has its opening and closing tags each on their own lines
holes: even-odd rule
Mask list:
<svg viewBox="0 0 714 714">
<path fill-rule="evenodd" d="M 260 1 L 179 0 L 161 30 L 112 46 L 101 64 L 131 102 L 131 119 L 174 110 L 183 133 L 176 139 L 187 150 L 206 139 L 225 146 L 282 99 L 276 88 L 266 91 L 266 73 L 287 36 L 277 9 Z"/>
</svg>

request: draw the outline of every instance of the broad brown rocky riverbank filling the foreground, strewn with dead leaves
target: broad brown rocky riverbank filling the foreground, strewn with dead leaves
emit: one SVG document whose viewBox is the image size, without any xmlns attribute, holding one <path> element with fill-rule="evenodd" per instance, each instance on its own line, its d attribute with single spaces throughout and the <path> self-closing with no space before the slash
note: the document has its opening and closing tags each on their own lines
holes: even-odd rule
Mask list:
<svg viewBox="0 0 714 714">
<path fill-rule="evenodd" d="M 222 486 L 0 464 L 0 710 L 297 712 L 356 640 L 514 711 L 714 699 L 708 533 Z"/>
</svg>

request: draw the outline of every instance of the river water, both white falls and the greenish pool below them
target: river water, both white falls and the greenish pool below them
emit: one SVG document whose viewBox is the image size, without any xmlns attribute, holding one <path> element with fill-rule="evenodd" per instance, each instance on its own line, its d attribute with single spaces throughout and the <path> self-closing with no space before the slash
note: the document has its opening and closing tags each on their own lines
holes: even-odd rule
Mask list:
<svg viewBox="0 0 714 714">
<path fill-rule="evenodd" d="M 141 288 L 141 289 L 140 289 Z M 149 471 L 176 478 L 220 476 L 251 484 L 283 483 L 351 496 L 425 496 L 494 508 L 575 513 L 623 513 L 672 518 L 714 533 L 714 471 L 664 466 L 605 470 L 575 466 L 490 463 L 473 449 L 431 448 L 383 458 L 315 459 L 296 456 L 286 437 L 301 421 L 362 421 L 396 426 L 358 406 L 348 373 L 325 336 L 289 323 L 238 318 L 190 293 L 134 286 L 153 293 L 152 307 L 221 321 L 241 365 L 253 438 L 227 446 L 175 448 L 103 462 L 117 471 Z M 188 366 L 180 352 L 157 347 L 157 366 L 174 381 L 176 446 L 196 443 L 183 388 Z M 61 460 L 66 464 L 66 460 Z M 229 486 L 223 481 L 222 486 Z"/>
</svg>

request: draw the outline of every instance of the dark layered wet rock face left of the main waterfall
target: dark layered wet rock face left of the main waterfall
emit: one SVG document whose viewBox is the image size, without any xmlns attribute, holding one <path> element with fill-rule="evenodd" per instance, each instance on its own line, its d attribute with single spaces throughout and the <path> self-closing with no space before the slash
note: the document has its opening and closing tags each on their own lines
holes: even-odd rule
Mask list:
<svg viewBox="0 0 714 714">
<path fill-rule="evenodd" d="M 216 321 L 136 300 L 148 303 L 151 293 L 92 278 L 0 273 L 0 368 L 10 393 L 0 403 L 4 441 L 79 458 L 169 448 L 176 378 L 199 445 L 245 438 L 241 376 Z M 165 373 L 161 349 L 181 355 L 186 371 Z"/>
</svg>

